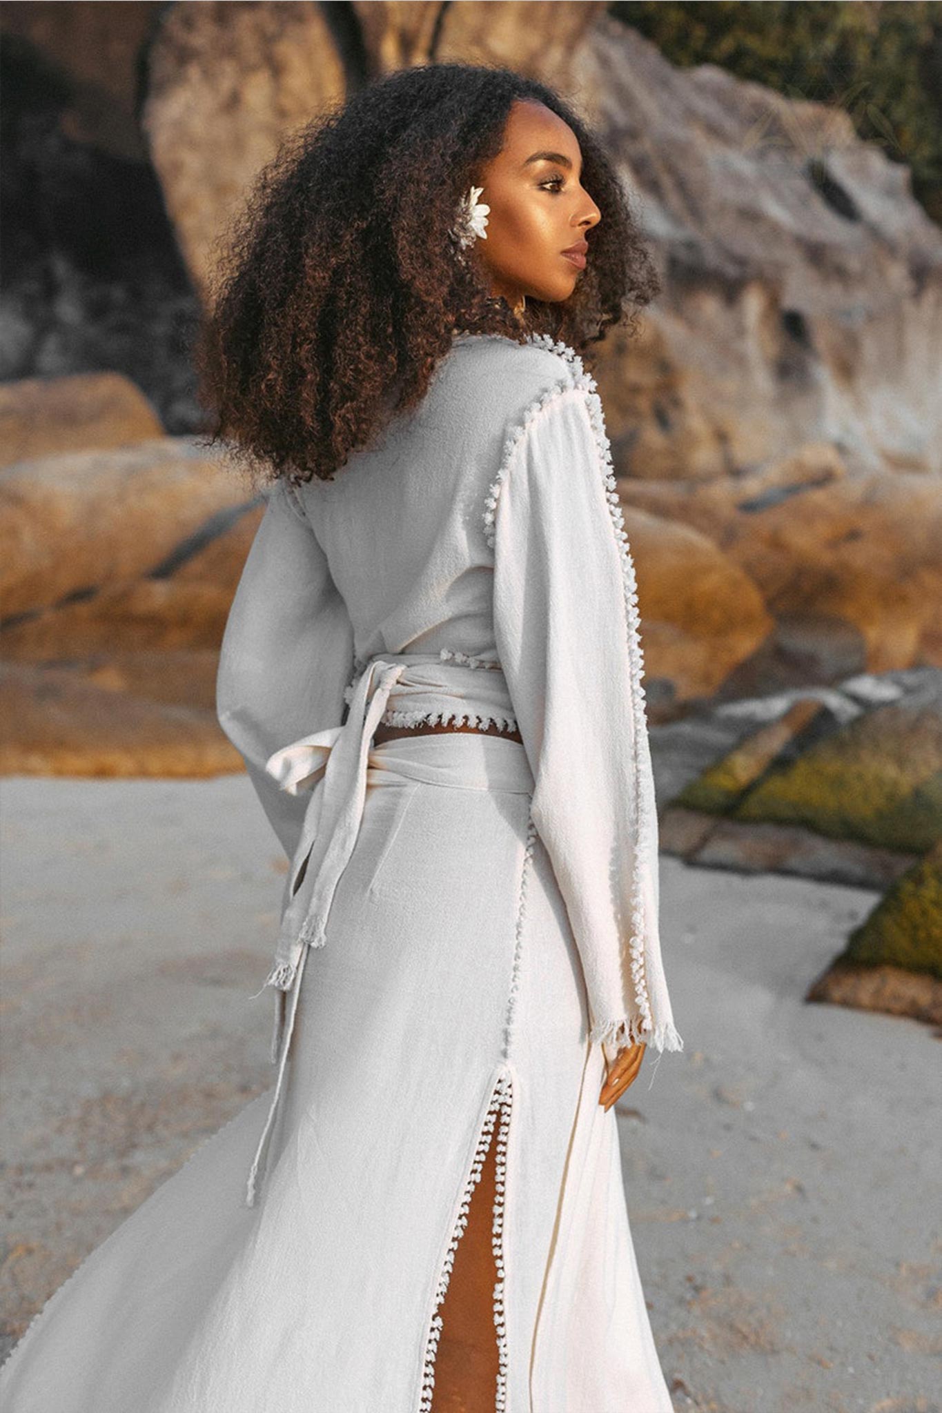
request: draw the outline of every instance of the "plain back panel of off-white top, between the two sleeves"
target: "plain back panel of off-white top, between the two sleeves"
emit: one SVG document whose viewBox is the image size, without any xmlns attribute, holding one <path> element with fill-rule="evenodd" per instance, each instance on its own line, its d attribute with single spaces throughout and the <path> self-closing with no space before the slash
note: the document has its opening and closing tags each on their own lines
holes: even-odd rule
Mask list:
<svg viewBox="0 0 942 1413">
<path fill-rule="evenodd" d="M 451 649 L 496 658 L 493 550 L 483 521 L 510 428 L 565 359 L 500 335 L 459 335 L 422 404 L 333 482 L 299 487 L 350 615 L 354 664 Z"/>
</svg>

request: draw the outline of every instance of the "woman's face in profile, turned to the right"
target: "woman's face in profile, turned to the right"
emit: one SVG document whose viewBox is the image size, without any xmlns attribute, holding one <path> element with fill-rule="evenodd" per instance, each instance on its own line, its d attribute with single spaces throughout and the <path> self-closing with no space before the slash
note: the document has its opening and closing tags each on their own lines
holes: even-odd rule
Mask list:
<svg viewBox="0 0 942 1413">
<path fill-rule="evenodd" d="M 475 178 L 483 187 L 477 199 L 490 213 L 486 239 L 472 247 L 491 294 L 503 295 L 515 312 L 523 311 L 524 295 L 559 302 L 576 287 L 586 232 L 602 220 L 580 175 L 582 153 L 569 124 L 542 103 L 517 99 L 501 151 Z M 564 254 L 572 246 L 575 260 Z"/>
</svg>

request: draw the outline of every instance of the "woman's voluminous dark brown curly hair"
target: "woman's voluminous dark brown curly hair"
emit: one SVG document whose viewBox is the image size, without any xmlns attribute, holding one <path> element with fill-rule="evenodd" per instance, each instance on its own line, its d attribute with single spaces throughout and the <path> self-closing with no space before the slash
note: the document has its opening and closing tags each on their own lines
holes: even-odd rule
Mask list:
<svg viewBox="0 0 942 1413">
<path fill-rule="evenodd" d="M 573 294 L 528 297 L 523 321 L 449 239 L 518 99 L 569 124 L 603 216 Z M 193 348 L 206 445 L 263 480 L 332 480 L 422 400 L 456 328 L 582 353 L 612 324 L 634 332 L 660 288 L 599 138 L 551 88 L 487 65 L 400 69 L 323 110 L 261 171 L 222 249 Z"/>
</svg>

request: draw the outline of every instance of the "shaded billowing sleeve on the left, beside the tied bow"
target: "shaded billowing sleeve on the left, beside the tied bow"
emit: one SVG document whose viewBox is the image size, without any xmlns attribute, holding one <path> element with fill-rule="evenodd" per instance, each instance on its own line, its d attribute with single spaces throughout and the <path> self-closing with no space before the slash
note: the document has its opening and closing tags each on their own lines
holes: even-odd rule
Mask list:
<svg viewBox="0 0 942 1413">
<path fill-rule="evenodd" d="M 216 715 L 290 859 L 308 796 L 282 790 L 266 762 L 299 736 L 340 725 L 352 670 L 346 603 L 295 492 L 278 480 L 229 610 Z"/>
</svg>

